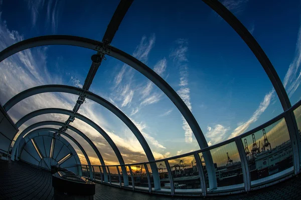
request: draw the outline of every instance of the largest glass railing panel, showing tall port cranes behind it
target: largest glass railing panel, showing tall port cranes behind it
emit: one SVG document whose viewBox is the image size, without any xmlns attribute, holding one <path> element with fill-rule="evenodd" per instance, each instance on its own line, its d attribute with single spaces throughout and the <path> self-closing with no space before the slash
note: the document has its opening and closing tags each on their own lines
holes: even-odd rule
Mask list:
<svg viewBox="0 0 301 200">
<path fill-rule="evenodd" d="M 249 160 L 252 185 L 269 180 L 268 176 L 272 174 L 285 173 L 292 167 L 292 149 L 284 118 L 241 140 Z M 262 180 L 256 181 L 258 179 Z"/>
</svg>

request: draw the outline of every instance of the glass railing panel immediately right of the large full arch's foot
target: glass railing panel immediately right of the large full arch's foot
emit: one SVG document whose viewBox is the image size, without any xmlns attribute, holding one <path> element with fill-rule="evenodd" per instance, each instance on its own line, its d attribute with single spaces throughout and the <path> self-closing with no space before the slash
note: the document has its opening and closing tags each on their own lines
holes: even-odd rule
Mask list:
<svg viewBox="0 0 301 200">
<path fill-rule="evenodd" d="M 235 184 L 239 187 L 244 186 L 240 157 L 235 142 L 211 149 L 210 153 L 214 163 L 217 187 Z M 203 162 L 204 158 L 201 157 L 201 160 Z M 204 167 L 204 170 L 207 189 L 209 189 L 206 167 Z"/>
</svg>

